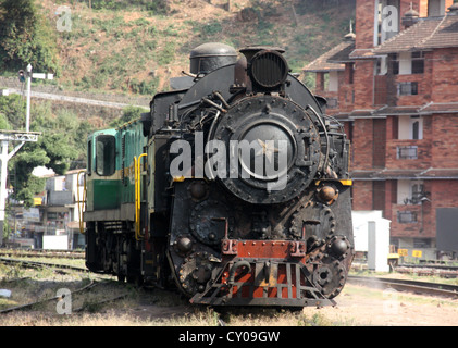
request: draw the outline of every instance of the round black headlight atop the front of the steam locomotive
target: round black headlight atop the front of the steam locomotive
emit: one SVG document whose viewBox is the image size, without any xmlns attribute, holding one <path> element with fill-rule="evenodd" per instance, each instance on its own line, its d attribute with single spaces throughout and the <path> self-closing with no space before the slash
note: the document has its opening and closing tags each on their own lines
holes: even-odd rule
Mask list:
<svg viewBox="0 0 458 348">
<path fill-rule="evenodd" d="M 248 73 L 253 83 L 265 89 L 275 89 L 286 82 L 288 64 L 277 51 L 262 50 L 253 55 Z"/>
</svg>

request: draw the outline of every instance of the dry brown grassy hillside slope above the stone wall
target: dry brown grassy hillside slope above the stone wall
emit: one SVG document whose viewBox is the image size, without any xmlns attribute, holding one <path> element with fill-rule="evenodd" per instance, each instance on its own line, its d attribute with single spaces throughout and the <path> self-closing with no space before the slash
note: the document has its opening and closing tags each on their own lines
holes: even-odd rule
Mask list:
<svg viewBox="0 0 458 348">
<path fill-rule="evenodd" d="M 89 8 L 91 2 L 91 8 Z M 348 33 L 355 1 L 92 0 L 41 1 L 57 26 L 66 5 L 71 30 L 55 30 L 63 89 L 152 95 L 188 71 L 189 51 L 209 41 L 236 49 L 280 46 L 294 72 Z M 230 4 L 230 8 L 227 9 Z"/>
</svg>

